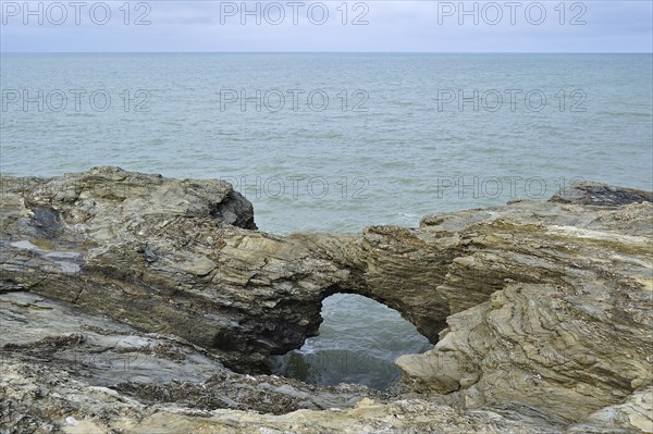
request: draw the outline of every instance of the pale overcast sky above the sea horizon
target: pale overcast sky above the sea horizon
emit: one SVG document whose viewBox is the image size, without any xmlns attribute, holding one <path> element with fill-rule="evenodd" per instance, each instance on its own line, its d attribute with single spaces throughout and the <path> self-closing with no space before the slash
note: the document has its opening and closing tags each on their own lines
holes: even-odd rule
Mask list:
<svg viewBox="0 0 653 434">
<path fill-rule="evenodd" d="M 125 7 L 126 4 L 126 7 Z M 3 52 L 651 52 L 653 2 L 2 1 Z"/>
</svg>

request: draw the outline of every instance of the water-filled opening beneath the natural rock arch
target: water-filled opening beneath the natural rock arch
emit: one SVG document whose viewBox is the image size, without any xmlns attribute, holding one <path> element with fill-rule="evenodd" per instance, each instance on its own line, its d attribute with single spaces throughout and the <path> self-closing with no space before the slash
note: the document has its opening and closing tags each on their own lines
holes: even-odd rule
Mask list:
<svg viewBox="0 0 653 434">
<path fill-rule="evenodd" d="M 272 373 L 308 384 L 356 383 L 386 389 L 401 376 L 394 360 L 433 345 L 399 312 L 356 294 L 334 294 L 322 301 L 319 335 L 299 349 L 272 356 Z"/>
</svg>

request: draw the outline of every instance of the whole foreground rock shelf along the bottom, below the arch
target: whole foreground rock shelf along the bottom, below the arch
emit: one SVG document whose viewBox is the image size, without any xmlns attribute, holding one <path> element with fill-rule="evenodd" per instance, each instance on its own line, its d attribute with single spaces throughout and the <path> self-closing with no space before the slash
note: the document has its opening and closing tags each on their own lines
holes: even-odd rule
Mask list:
<svg viewBox="0 0 653 434">
<path fill-rule="evenodd" d="M 237 374 L 172 335 L 28 293 L 0 295 L 0 312 L 2 433 L 555 432 L 362 386 Z"/>
</svg>

